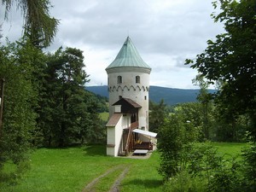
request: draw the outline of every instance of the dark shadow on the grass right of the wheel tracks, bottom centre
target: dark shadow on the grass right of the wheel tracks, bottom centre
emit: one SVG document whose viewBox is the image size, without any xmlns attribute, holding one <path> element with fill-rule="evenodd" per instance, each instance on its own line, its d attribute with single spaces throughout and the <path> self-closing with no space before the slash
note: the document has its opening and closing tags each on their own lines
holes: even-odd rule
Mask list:
<svg viewBox="0 0 256 192">
<path fill-rule="evenodd" d="M 122 183 L 123 186 L 125 185 L 136 185 L 141 186 L 143 189 L 156 189 L 160 188 L 163 185 L 162 180 L 156 179 L 132 179 L 131 181 L 127 181 Z M 140 187 L 138 187 L 140 188 Z"/>
</svg>

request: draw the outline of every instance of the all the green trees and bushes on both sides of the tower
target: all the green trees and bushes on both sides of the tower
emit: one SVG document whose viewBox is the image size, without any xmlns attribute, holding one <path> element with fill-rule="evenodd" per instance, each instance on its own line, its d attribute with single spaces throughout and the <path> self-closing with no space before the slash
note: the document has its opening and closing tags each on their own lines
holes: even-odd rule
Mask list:
<svg viewBox="0 0 256 192">
<path fill-rule="evenodd" d="M 6 180 L 5 163 L 17 167 L 10 177 L 18 179 L 37 148 L 106 142 L 106 122 L 99 113 L 108 111 L 108 99 L 85 89 L 90 74 L 82 50 L 45 51 L 59 20 L 49 15 L 49 1 L 36 2 L 1 1 L 6 18 L 16 5 L 25 22 L 19 41 L 0 38 L 0 182 Z M 194 60 L 184 61 L 198 71 L 193 79 L 201 88 L 197 102 L 149 103 L 149 127 L 159 133 L 159 172 L 166 191 L 183 179 L 204 183 L 194 191 L 256 190 L 256 2 L 219 0 L 212 5 L 221 10 L 212 19 L 224 23 L 225 32 L 208 40 Z M 217 92 L 208 92 L 210 84 L 217 85 Z M 238 163 L 219 157 L 209 141 L 249 147 Z"/>
</svg>

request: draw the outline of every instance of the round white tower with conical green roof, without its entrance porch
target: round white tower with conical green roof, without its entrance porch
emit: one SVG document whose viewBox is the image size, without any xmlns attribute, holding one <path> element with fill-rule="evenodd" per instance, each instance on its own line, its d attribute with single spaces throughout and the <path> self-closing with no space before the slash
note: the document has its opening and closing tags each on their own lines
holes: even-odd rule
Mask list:
<svg viewBox="0 0 256 192">
<path fill-rule="evenodd" d="M 109 117 L 114 113 L 113 103 L 122 98 L 131 99 L 142 108 L 138 110 L 139 128 L 148 131 L 148 91 L 151 68 L 127 37 L 119 54 L 106 68 L 108 73 Z"/>
</svg>

